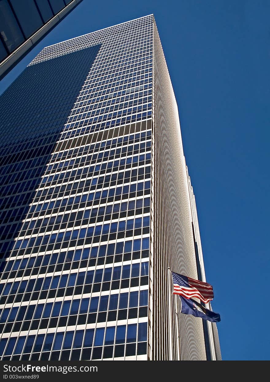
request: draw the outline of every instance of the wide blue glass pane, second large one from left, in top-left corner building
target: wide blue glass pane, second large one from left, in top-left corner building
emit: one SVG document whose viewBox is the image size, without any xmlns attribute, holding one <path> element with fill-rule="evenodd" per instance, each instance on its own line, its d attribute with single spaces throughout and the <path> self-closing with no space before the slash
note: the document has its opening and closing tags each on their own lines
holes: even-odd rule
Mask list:
<svg viewBox="0 0 270 382">
<path fill-rule="evenodd" d="M 19 23 L 23 29 L 26 38 L 30 37 L 42 25 L 37 7 L 34 0 L 10 0 Z"/>
</svg>

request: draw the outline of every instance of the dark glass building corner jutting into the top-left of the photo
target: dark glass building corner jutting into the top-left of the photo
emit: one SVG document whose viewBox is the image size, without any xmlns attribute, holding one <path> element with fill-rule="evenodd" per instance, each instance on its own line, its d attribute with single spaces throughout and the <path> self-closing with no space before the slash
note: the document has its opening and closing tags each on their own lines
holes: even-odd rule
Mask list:
<svg viewBox="0 0 270 382">
<path fill-rule="evenodd" d="M 0 0 L 0 79 L 82 0 Z"/>
</svg>

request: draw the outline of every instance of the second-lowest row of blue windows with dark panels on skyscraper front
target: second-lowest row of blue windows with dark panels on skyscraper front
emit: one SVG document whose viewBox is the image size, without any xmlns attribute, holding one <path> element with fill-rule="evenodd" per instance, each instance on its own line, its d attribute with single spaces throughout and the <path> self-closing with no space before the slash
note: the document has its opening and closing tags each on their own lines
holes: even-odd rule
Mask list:
<svg viewBox="0 0 270 382">
<path fill-rule="evenodd" d="M 148 290 L 14 306 L 5 308 L 3 311 L 0 309 L 0 332 L 94 324 L 106 322 L 106 320 L 115 321 L 116 318 L 118 320 L 132 319 L 138 317 L 138 312 L 139 317 L 146 317 L 147 306 Z"/>
</svg>

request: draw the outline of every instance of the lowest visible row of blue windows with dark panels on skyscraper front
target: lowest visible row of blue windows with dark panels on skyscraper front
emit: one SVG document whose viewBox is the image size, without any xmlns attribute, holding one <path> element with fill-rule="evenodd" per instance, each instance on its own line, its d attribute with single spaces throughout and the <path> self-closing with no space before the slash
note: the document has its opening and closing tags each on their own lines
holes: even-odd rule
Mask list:
<svg viewBox="0 0 270 382">
<path fill-rule="evenodd" d="M 75 335 L 74 335 L 75 334 Z M 90 359 L 91 351 L 93 347 L 92 359 L 102 358 L 102 346 L 104 346 L 103 358 L 112 358 L 113 344 L 115 343 L 114 357 L 122 357 L 136 354 L 136 342 L 138 342 L 138 354 L 146 354 L 146 340 L 147 340 L 147 323 L 141 322 L 139 324 L 117 325 L 107 326 L 105 328 L 76 330 L 67 332 L 56 332 L 39 335 L 2 338 L 0 340 L 0 356 L 4 354 L 2 360 L 10 359 L 11 354 L 22 354 L 22 360 L 28 360 L 30 354 L 33 352 L 31 359 L 39 359 L 40 353 L 42 353 L 42 359 L 49 359 L 50 351 L 51 360 L 58 360 L 60 356 L 60 350 L 62 354 L 60 359 Z M 6 346 L 8 342 L 8 345 Z M 125 344 L 125 346 L 117 346 L 119 344 Z M 143 346 L 139 346 L 143 343 Z M 106 346 L 111 345 L 111 346 Z M 129 346 L 133 345 L 133 346 Z M 135 346 L 134 346 L 135 345 Z M 72 349 L 72 353 L 71 353 Z M 80 355 L 82 351 L 82 355 Z M 75 350 L 75 353 L 74 353 Z M 14 353 L 13 353 L 14 351 Z M 34 354 L 36 353 L 36 356 Z M 46 354 L 47 353 L 47 354 Z M 28 355 L 28 356 L 27 356 Z M 46 357 L 47 355 L 47 357 Z M 5 356 L 9 356 L 5 357 Z M 12 358 L 19 359 L 19 358 Z"/>
</svg>

